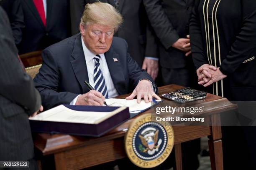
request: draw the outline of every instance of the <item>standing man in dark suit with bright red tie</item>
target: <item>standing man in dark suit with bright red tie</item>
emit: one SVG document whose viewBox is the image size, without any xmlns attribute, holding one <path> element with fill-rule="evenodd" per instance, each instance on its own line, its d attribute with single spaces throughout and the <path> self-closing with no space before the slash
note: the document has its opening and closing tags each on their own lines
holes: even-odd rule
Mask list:
<svg viewBox="0 0 256 170">
<path fill-rule="evenodd" d="M 25 29 L 19 53 L 42 50 L 69 37 L 68 0 L 21 0 Z"/>
</svg>

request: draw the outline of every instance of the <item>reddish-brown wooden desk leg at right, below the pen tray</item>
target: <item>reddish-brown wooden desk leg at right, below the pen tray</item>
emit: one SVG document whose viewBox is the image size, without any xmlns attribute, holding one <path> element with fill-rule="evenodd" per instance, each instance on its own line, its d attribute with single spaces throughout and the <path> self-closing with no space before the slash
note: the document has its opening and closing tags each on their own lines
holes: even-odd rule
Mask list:
<svg viewBox="0 0 256 170">
<path fill-rule="evenodd" d="M 212 135 L 208 136 L 210 160 L 212 170 L 223 170 L 222 134 L 220 125 L 220 113 L 211 115 Z"/>
</svg>

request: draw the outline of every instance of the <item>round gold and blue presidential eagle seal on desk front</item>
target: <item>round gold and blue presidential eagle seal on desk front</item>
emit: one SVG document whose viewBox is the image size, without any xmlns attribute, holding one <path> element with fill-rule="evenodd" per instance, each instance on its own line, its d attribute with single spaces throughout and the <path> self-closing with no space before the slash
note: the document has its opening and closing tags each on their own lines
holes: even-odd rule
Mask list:
<svg viewBox="0 0 256 170">
<path fill-rule="evenodd" d="M 141 168 L 153 168 L 166 160 L 174 145 L 171 124 L 161 125 L 144 114 L 133 120 L 125 135 L 125 151 L 131 162 Z"/>
</svg>

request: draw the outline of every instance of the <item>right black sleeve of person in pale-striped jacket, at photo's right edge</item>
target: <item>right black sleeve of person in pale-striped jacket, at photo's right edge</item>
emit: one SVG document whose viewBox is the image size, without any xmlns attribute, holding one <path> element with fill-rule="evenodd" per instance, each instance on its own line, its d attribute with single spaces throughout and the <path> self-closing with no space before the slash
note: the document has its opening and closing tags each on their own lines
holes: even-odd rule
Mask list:
<svg viewBox="0 0 256 170">
<path fill-rule="evenodd" d="M 241 8 L 241 32 L 236 36 L 230 52 L 220 65 L 220 71 L 225 75 L 233 73 L 256 48 L 256 1 L 241 0 Z"/>
</svg>

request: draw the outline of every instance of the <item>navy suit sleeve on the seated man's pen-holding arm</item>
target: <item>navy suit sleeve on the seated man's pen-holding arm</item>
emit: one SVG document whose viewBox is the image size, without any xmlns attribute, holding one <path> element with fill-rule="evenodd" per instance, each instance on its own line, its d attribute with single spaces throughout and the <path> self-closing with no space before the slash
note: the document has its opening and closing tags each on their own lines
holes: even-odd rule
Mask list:
<svg viewBox="0 0 256 170">
<path fill-rule="evenodd" d="M 34 78 L 35 86 L 42 97 L 42 105 L 46 110 L 57 105 L 69 104 L 79 94 L 72 92 L 58 92 L 60 72 L 49 49 L 42 53 L 43 64 Z"/>
</svg>

